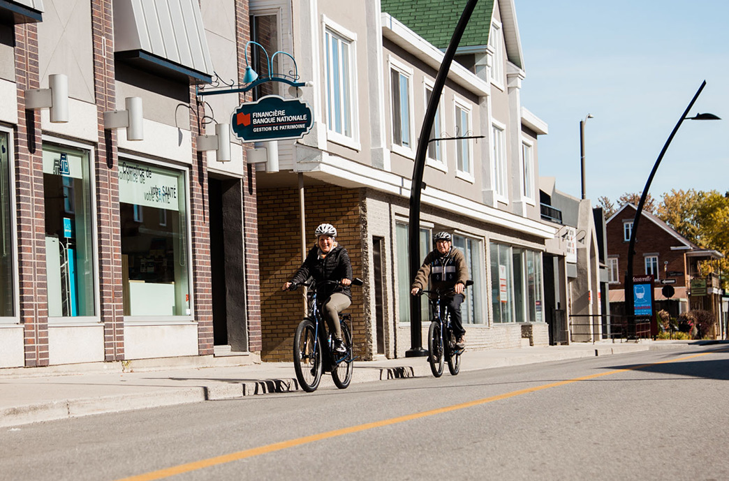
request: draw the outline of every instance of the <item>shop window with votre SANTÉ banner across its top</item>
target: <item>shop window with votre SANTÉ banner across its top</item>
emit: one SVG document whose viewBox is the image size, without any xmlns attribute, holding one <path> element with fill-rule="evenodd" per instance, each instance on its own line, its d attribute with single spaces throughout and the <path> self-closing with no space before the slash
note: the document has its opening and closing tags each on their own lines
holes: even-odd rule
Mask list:
<svg viewBox="0 0 729 481">
<path fill-rule="evenodd" d="M 184 171 L 122 160 L 119 200 L 125 316 L 189 316 Z"/>
</svg>

